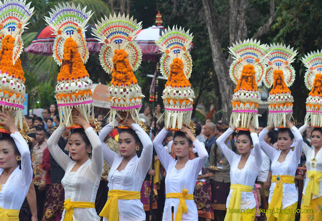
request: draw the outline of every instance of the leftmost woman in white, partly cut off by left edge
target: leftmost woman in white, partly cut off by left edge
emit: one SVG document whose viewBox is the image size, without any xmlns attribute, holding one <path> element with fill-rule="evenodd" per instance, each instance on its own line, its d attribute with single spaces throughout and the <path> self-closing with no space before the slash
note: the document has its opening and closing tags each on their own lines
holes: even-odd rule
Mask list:
<svg viewBox="0 0 322 221">
<path fill-rule="evenodd" d="M 11 133 L 0 134 L 0 220 L 19 220 L 33 175 L 29 146 L 8 111 L 0 119 Z"/>
</svg>

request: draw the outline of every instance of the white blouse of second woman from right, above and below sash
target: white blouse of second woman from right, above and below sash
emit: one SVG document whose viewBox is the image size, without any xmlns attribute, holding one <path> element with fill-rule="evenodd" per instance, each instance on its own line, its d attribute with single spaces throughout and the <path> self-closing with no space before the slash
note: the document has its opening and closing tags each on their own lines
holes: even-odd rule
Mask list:
<svg viewBox="0 0 322 221">
<path fill-rule="evenodd" d="M 285 161 L 283 163 L 278 162 L 278 158 L 281 155 L 281 151 L 275 150 L 273 148 L 273 146 L 270 146 L 264 140 L 266 134 L 269 131 L 264 128 L 262 130 L 262 132 L 259 134 L 261 148 L 265 152 L 265 154 L 267 154 L 267 156 L 270 157 L 270 159 L 272 161 L 272 165 L 271 165 L 272 175 L 295 176 L 298 162 L 301 158 L 303 138 L 295 126 L 293 126 L 291 128 L 291 131 L 294 134 L 296 144 L 295 144 L 294 151 L 290 151 L 287 154 Z M 271 184 L 270 196 L 268 199 L 269 203 L 271 203 L 275 186 L 276 186 L 276 182 Z M 294 183 L 283 183 L 283 199 L 282 199 L 283 209 L 294 204 L 297 201 L 298 201 L 298 193 L 297 193 L 295 184 Z"/>
</svg>

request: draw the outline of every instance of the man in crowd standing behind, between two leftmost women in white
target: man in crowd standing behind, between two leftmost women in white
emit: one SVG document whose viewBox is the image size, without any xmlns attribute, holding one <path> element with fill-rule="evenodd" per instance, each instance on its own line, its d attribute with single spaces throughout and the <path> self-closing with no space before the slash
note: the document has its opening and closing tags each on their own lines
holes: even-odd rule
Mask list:
<svg viewBox="0 0 322 221">
<path fill-rule="evenodd" d="M 44 127 L 38 126 L 36 128 L 36 145 L 33 147 L 31 161 L 32 168 L 35 174 L 33 178 L 33 183 L 35 185 L 36 196 L 37 196 L 37 214 L 38 220 L 41 221 L 42 212 L 44 208 L 45 194 L 46 194 L 46 184 L 45 184 L 45 175 L 46 171 L 42 167 L 42 157 L 45 148 L 47 147 L 46 143 L 47 132 Z"/>
</svg>

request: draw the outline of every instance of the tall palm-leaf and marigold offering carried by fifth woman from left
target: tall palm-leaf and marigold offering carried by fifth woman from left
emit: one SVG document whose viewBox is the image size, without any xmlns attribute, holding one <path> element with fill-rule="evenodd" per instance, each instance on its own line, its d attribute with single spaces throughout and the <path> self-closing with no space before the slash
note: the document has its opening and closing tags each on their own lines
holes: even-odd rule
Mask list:
<svg viewBox="0 0 322 221">
<path fill-rule="evenodd" d="M 250 122 L 258 127 L 258 107 L 261 96 L 257 85 L 261 83 L 266 66 L 263 63 L 268 46 L 260 41 L 247 39 L 229 47 L 235 59 L 229 68 L 230 79 L 236 84 L 232 96 L 230 125 L 237 130 L 248 130 Z"/>
</svg>

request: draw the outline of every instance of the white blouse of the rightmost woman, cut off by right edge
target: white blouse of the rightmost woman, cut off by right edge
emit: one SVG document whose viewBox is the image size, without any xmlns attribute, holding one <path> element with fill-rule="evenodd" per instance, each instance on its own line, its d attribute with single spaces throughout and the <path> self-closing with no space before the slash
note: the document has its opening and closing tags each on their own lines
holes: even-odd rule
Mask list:
<svg viewBox="0 0 322 221">
<path fill-rule="evenodd" d="M 309 127 L 310 127 L 310 125 L 304 124 L 303 126 L 301 126 L 298 129 L 298 131 L 300 133 L 303 133 Z M 302 152 L 305 154 L 305 157 L 306 157 L 306 170 L 307 171 L 310 170 L 310 171 L 322 172 L 322 148 L 316 154 L 316 157 L 315 157 L 316 162 L 312 161 L 314 159 L 314 156 L 315 156 L 314 146 L 310 147 L 305 142 L 303 142 L 303 150 L 302 150 Z M 312 163 L 314 163 L 314 166 L 313 166 Z M 304 181 L 304 188 L 303 188 L 303 194 L 304 195 L 305 195 L 305 190 L 306 190 L 307 183 L 308 183 L 309 180 L 310 180 L 310 178 L 308 178 L 306 176 L 305 181 Z M 319 183 L 319 187 L 318 187 L 318 195 L 312 194 L 312 199 L 316 199 L 316 198 L 318 198 L 320 196 L 322 196 L 322 178 L 320 179 L 320 183 Z"/>
</svg>

